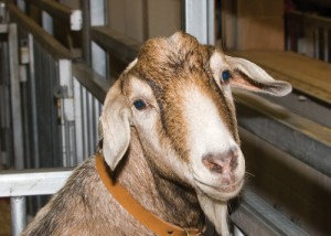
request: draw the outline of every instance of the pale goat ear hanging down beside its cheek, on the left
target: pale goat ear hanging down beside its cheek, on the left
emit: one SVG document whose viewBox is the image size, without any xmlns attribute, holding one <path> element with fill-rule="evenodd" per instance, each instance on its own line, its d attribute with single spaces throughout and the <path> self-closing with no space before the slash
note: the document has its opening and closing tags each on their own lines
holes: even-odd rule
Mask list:
<svg viewBox="0 0 331 236">
<path fill-rule="evenodd" d="M 128 101 L 121 94 L 120 82 L 117 81 L 107 94 L 100 118 L 104 158 L 111 171 L 129 147 L 131 117 Z"/>
</svg>

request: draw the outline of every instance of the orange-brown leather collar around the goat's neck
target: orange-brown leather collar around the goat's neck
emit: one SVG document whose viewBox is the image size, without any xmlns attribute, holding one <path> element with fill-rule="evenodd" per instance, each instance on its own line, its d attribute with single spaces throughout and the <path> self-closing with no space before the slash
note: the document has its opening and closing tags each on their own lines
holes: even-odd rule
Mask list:
<svg viewBox="0 0 331 236">
<path fill-rule="evenodd" d="M 107 187 L 108 192 L 117 200 L 117 202 L 136 219 L 138 219 L 147 228 L 157 235 L 166 236 L 188 236 L 188 235 L 202 235 L 197 228 L 181 228 L 177 225 L 164 222 L 154 214 L 143 208 L 134 196 L 118 182 L 114 183 L 107 173 L 107 165 L 103 155 L 97 152 L 95 155 L 96 170 L 100 180 Z"/>
</svg>

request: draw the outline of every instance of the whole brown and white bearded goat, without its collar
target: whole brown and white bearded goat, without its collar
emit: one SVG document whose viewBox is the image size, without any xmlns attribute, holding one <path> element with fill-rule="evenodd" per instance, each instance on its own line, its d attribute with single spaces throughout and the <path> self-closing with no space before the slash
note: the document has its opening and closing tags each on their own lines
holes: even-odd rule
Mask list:
<svg viewBox="0 0 331 236">
<path fill-rule="evenodd" d="M 186 33 L 147 41 L 105 99 L 99 152 L 108 176 L 162 221 L 203 232 L 207 216 L 228 235 L 227 201 L 245 175 L 232 87 L 291 90 Z M 95 165 L 92 157 L 77 167 L 23 235 L 158 234 L 107 192 Z"/>
</svg>

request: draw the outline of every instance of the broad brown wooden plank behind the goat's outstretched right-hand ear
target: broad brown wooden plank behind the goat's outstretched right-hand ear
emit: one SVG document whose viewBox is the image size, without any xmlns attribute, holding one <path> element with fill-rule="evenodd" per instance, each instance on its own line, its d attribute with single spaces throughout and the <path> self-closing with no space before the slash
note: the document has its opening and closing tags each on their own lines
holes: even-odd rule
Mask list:
<svg viewBox="0 0 331 236">
<path fill-rule="evenodd" d="M 233 56 L 247 58 L 276 79 L 287 81 L 293 88 L 331 104 L 331 64 L 284 51 L 236 51 Z"/>
</svg>

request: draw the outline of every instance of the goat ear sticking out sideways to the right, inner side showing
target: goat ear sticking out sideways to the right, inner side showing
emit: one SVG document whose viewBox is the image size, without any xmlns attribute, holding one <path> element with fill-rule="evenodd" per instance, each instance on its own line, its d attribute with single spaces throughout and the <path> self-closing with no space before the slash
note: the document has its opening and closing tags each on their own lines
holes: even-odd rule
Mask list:
<svg viewBox="0 0 331 236">
<path fill-rule="evenodd" d="M 275 81 L 258 65 L 239 57 L 225 56 L 233 71 L 229 85 L 246 90 L 285 96 L 292 90 L 292 86 L 282 81 Z"/>
</svg>

